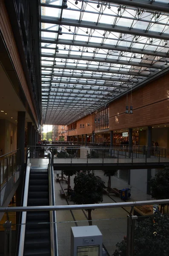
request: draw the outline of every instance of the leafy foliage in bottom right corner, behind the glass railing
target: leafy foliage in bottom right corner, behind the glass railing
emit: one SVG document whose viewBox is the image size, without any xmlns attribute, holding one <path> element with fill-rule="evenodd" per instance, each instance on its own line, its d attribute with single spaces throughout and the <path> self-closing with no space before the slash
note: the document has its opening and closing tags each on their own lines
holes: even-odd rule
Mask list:
<svg viewBox="0 0 169 256">
<path fill-rule="evenodd" d="M 116 244 L 113 256 L 126 256 L 126 241 Z M 169 255 L 169 217 L 156 213 L 135 227 L 134 256 Z"/>
</svg>

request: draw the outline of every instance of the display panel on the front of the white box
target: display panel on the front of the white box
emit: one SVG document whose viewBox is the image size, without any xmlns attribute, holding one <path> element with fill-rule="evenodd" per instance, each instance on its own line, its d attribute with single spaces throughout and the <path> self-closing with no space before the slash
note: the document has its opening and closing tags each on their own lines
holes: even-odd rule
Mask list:
<svg viewBox="0 0 169 256">
<path fill-rule="evenodd" d="M 78 246 L 77 256 L 99 256 L 99 245 Z"/>
</svg>

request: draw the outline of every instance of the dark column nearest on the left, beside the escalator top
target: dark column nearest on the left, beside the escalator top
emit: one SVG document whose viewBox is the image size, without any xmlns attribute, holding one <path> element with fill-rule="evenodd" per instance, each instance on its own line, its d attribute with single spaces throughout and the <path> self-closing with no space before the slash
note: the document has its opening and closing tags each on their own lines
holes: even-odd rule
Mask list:
<svg viewBox="0 0 169 256">
<path fill-rule="evenodd" d="M 17 148 L 20 148 L 21 172 L 24 171 L 25 160 L 25 113 L 17 112 Z M 19 156 L 17 160 L 19 161 Z"/>
</svg>

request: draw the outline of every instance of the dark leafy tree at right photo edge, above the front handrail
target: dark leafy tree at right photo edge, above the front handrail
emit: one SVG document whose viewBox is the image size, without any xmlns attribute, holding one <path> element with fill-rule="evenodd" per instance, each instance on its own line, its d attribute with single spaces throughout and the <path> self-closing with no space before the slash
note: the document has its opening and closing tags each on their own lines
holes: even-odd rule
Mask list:
<svg viewBox="0 0 169 256">
<path fill-rule="evenodd" d="M 155 177 L 151 177 L 150 181 L 151 196 L 157 200 L 169 198 L 169 166 L 162 170 L 158 170 Z M 165 204 L 161 204 L 160 212 L 164 213 Z"/>
</svg>

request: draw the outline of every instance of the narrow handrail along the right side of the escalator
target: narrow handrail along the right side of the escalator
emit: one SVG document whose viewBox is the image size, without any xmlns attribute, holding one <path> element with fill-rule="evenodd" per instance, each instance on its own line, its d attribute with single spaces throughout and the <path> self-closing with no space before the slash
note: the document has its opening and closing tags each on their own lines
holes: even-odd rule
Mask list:
<svg viewBox="0 0 169 256">
<path fill-rule="evenodd" d="M 52 192 L 52 205 L 55 205 L 55 195 L 54 195 L 54 176 L 53 176 L 53 158 L 52 153 L 49 151 L 49 164 L 51 169 L 51 192 Z M 52 211 L 53 216 L 53 230 L 54 230 L 54 256 L 58 256 L 58 244 L 57 244 L 57 225 L 56 225 L 56 215 L 55 211 Z"/>
</svg>

